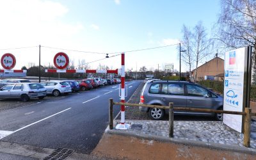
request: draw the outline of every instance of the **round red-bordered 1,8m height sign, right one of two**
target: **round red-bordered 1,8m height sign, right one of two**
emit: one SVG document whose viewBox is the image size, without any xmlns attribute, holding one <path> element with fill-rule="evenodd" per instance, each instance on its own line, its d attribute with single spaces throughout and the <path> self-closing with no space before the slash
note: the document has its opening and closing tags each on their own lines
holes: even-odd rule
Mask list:
<svg viewBox="0 0 256 160">
<path fill-rule="evenodd" d="M 65 52 L 58 52 L 53 58 L 54 66 L 60 70 L 68 67 L 69 58 Z"/>
</svg>

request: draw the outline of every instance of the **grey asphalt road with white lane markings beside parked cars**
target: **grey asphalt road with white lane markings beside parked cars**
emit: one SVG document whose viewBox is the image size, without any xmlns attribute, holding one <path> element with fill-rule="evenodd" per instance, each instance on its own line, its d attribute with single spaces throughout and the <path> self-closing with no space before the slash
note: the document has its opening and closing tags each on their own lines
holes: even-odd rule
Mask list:
<svg viewBox="0 0 256 160">
<path fill-rule="evenodd" d="M 140 81 L 127 82 L 131 97 Z M 0 141 L 90 154 L 108 126 L 108 99 L 120 101 L 118 85 L 0 112 Z M 114 116 L 120 107 L 114 108 Z M 5 136 L 5 137 L 3 137 Z"/>
</svg>

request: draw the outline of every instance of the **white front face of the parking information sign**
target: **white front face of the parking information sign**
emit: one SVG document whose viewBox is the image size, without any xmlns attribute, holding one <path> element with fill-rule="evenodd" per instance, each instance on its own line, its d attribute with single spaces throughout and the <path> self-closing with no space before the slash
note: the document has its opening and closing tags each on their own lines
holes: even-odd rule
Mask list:
<svg viewBox="0 0 256 160">
<path fill-rule="evenodd" d="M 225 53 L 224 111 L 243 111 L 244 58 L 246 47 Z M 223 115 L 223 123 L 242 132 L 242 115 Z"/>
</svg>

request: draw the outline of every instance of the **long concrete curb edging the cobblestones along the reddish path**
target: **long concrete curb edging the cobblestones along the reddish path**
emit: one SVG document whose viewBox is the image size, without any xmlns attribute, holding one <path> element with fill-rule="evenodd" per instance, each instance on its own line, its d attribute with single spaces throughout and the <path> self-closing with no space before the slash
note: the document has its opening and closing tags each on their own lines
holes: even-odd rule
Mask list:
<svg viewBox="0 0 256 160">
<path fill-rule="evenodd" d="M 136 138 L 143 138 L 146 140 L 156 140 L 156 141 L 163 141 L 168 143 L 179 143 L 183 145 L 192 145 L 197 147 L 206 147 L 206 148 L 214 148 L 214 149 L 221 149 L 221 150 L 227 150 L 231 152 L 241 152 L 245 154 L 256 154 L 255 148 L 246 148 L 246 147 L 238 147 L 236 145 L 222 145 L 220 143 L 209 143 L 209 142 L 203 142 L 203 141 L 193 141 L 193 140 L 182 140 L 178 138 L 168 138 L 163 136 L 154 136 L 154 135 L 148 135 L 148 134 L 136 134 L 135 132 L 126 132 L 122 130 L 116 130 L 106 129 L 105 131 L 108 134 L 118 134 L 120 136 L 132 136 Z"/>
</svg>

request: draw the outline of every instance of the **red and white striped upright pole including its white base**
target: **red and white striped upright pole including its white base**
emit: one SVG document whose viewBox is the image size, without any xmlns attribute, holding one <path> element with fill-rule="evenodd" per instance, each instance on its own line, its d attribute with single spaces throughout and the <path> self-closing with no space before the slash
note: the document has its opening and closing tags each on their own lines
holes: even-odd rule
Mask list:
<svg viewBox="0 0 256 160">
<path fill-rule="evenodd" d="M 121 102 L 125 102 L 125 54 L 121 54 Z M 129 124 L 125 124 L 125 106 L 121 106 L 121 120 L 120 124 L 116 125 L 116 129 L 129 129 Z"/>
</svg>

